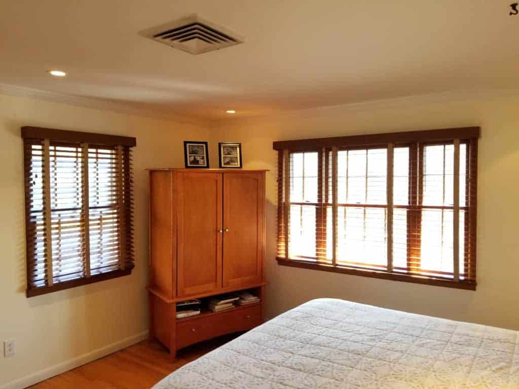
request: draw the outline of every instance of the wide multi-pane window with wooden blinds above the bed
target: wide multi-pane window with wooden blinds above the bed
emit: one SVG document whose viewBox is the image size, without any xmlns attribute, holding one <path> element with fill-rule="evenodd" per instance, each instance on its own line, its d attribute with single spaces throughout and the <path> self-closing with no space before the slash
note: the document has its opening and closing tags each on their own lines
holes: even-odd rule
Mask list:
<svg viewBox="0 0 519 389">
<path fill-rule="evenodd" d="M 474 289 L 479 134 L 275 142 L 278 262 Z"/>
</svg>

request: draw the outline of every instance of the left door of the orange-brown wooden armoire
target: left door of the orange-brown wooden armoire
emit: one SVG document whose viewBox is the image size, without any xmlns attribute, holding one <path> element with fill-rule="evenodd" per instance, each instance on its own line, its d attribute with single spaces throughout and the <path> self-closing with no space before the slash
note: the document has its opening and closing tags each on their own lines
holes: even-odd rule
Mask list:
<svg viewBox="0 0 519 389">
<path fill-rule="evenodd" d="M 177 175 L 177 295 L 222 287 L 222 174 Z"/>
</svg>

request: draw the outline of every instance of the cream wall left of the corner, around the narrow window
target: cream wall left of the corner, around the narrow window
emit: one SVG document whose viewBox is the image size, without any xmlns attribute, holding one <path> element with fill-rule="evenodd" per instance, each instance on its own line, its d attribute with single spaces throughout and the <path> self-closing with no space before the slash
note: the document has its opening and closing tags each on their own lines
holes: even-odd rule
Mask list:
<svg viewBox="0 0 519 389">
<path fill-rule="evenodd" d="M 136 267 L 131 276 L 25 298 L 20 127 L 27 125 L 137 138 L 134 149 Z M 189 122 L 0 95 L 0 341 L 11 338 L 17 341 L 15 357 L 0 355 L 0 387 L 21 387 L 29 374 L 52 370 L 72 358 L 145 336 L 148 179 L 144 169 L 182 167 L 186 134 L 190 140 L 207 140 L 208 130 Z"/>
</svg>

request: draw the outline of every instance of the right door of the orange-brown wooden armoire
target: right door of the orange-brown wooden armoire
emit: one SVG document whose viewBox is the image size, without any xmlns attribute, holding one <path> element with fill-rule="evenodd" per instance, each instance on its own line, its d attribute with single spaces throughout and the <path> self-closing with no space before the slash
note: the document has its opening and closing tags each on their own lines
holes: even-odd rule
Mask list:
<svg viewBox="0 0 519 389">
<path fill-rule="evenodd" d="M 223 287 L 262 281 L 264 174 L 224 173 Z"/>
</svg>

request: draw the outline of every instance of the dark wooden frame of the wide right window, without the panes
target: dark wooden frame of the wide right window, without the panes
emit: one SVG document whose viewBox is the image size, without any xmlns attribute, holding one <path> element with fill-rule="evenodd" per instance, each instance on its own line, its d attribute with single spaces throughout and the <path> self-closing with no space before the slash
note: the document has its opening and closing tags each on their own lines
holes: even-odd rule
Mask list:
<svg viewBox="0 0 519 389">
<path fill-rule="evenodd" d="M 273 148 L 279 151 L 278 157 L 278 253 L 284 253 L 283 256 L 278 255 L 277 261 L 279 265 L 305 268 L 312 270 L 321 270 L 327 272 L 336 272 L 343 274 L 353 274 L 368 277 L 375 277 L 378 279 L 403 281 L 411 283 L 419 283 L 426 285 L 444 286 L 459 289 L 475 290 L 476 289 L 476 218 L 477 218 L 477 140 L 480 137 L 481 129 L 479 127 L 465 127 L 465 128 L 450 128 L 427 131 L 412 131 L 399 133 L 386 133 L 374 135 L 354 135 L 344 137 L 330 137 L 308 140 L 294 140 L 294 141 L 280 141 L 274 142 Z M 417 260 L 420 258 L 420 244 L 417 244 L 421 237 L 421 214 L 422 208 L 430 209 L 431 206 L 422 206 L 421 199 L 423 195 L 423 174 L 424 166 L 424 146 L 431 144 L 455 144 L 455 156 L 458 153 L 458 158 L 455 158 L 455 170 L 459 168 L 459 145 L 467 145 L 466 153 L 466 203 L 464 207 L 459 206 L 459 196 L 455 196 L 454 206 L 441 206 L 439 209 L 458 209 L 465 210 L 465 266 L 466 277 L 463 280 L 459 279 L 459 273 L 462 269 L 457 269 L 459 261 L 457 260 L 459 254 L 458 249 L 454 249 L 454 277 L 452 279 L 444 277 L 435 277 L 420 274 L 420 269 L 416 267 Z M 456 146 L 456 144 L 458 146 Z M 411 242 L 407 240 L 407 260 L 408 271 L 406 273 L 394 272 L 392 263 L 392 223 L 388 226 L 388 247 L 387 247 L 387 270 L 362 269 L 353 266 L 338 265 L 336 263 L 336 247 L 337 247 L 337 190 L 332 189 L 332 204 L 329 203 L 329 185 L 324 180 L 332 177 L 332 188 L 336 188 L 337 184 L 337 151 L 344 149 L 369 149 L 369 148 L 387 148 L 388 149 L 388 223 L 392 219 L 392 210 L 395 207 L 402 207 L 408 209 L 407 211 L 407 236 L 415 234 L 417 240 Z M 392 204 L 392 160 L 393 152 L 397 147 L 409 147 L 409 202 L 406 206 L 394 206 Z M 330 174 L 330 150 L 332 150 L 332 172 Z M 332 206 L 333 212 L 333 254 L 332 260 L 306 260 L 304 258 L 291 258 L 288 248 L 284 247 L 289 240 L 288 231 L 288 217 L 290 209 L 290 169 L 287 162 L 292 152 L 318 152 L 319 153 L 319 169 L 318 169 L 318 207 L 320 212 L 316 210 L 316 237 L 317 232 L 325 234 L 329 231 L 326 229 L 326 210 Z M 458 165 L 456 165 L 458 164 Z M 280 170 L 282 169 L 282 170 Z M 459 170 L 458 170 L 459 172 Z M 460 173 L 460 172 L 459 172 Z M 454 174 L 459 179 L 460 174 Z M 390 178 L 389 178 L 390 177 Z M 288 182 L 287 182 L 288 180 Z M 389 190 L 390 189 L 390 190 Z M 455 185 L 455 193 L 459 190 L 459 185 Z M 392 205 L 392 206 L 391 206 Z M 432 208 L 435 208 L 432 206 Z M 389 211 L 391 209 L 391 211 Z M 282 220 L 282 221 L 280 221 Z M 456 226 L 456 220 L 453 221 Z M 282 228 L 281 228 L 282 227 Z M 456 231 L 456 228 L 454 229 Z M 280 231 L 282 235 L 280 234 Z M 323 232 L 324 231 L 324 232 Z M 459 232 L 459 231 L 458 231 Z M 458 232 L 454 232 L 453 241 L 456 242 Z M 325 242 L 326 240 L 324 240 Z M 414 243 L 414 244 L 412 244 Z M 316 258 L 319 258 L 319 252 L 322 247 L 317 247 L 316 244 Z M 325 246 L 325 244 L 324 244 Z M 284 251 L 280 247 L 284 247 Z M 456 247 L 456 245 L 455 245 Z M 326 247 L 324 247 L 326 248 Z M 458 254 L 456 254 L 458 253 Z"/>
</svg>

